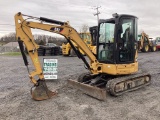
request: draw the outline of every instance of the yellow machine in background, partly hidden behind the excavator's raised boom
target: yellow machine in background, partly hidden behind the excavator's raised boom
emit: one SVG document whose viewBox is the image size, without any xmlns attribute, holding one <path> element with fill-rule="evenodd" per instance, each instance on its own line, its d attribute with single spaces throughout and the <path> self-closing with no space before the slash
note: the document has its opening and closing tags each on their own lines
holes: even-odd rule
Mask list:
<svg viewBox="0 0 160 120">
<path fill-rule="evenodd" d="M 81 39 L 87 44 L 88 47 L 91 46 L 91 35 L 89 32 L 86 33 L 79 33 Z M 81 52 L 82 55 L 85 55 L 85 53 L 78 48 L 78 46 L 72 42 L 72 44 Z M 62 54 L 64 56 L 76 56 L 76 53 L 74 52 L 73 48 L 71 47 L 69 42 L 62 43 Z"/>
</svg>

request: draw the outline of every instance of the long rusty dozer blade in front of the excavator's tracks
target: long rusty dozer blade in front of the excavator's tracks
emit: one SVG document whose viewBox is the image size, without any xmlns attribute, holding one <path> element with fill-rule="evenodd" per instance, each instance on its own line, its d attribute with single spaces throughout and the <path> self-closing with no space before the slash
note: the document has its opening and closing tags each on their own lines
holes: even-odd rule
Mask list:
<svg viewBox="0 0 160 120">
<path fill-rule="evenodd" d="M 105 89 L 101 89 L 95 86 L 91 86 L 88 84 L 80 83 L 75 80 L 68 80 L 68 85 L 71 85 L 72 87 L 81 90 L 85 94 L 92 96 L 96 99 L 105 101 L 107 98 L 107 93 Z"/>
</svg>

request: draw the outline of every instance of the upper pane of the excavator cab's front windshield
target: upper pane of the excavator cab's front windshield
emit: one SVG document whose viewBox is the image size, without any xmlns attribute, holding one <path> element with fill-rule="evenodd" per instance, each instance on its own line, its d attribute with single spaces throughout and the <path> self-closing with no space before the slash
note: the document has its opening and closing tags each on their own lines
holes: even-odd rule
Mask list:
<svg viewBox="0 0 160 120">
<path fill-rule="evenodd" d="M 109 43 L 114 40 L 115 23 L 102 23 L 100 24 L 99 43 Z"/>
</svg>

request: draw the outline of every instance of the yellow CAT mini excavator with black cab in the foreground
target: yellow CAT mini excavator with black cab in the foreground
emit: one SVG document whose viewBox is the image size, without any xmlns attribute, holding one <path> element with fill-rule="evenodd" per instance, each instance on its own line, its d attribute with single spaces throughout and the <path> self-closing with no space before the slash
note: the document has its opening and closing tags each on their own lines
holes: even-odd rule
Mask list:
<svg viewBox="0 0 160 120">
<path fill-rule="evenodd" d="M 24 17 L 26 17 L 24 19 Z M 84 93 L 97 99 L 106 99 L 109 92 L 118 96 L 148 85 L 150 74 L 138 74 L 137 55 L 137 17 L 132 15 L 113 14 L 113 18 L 99 20 L 97 30 L 97 55 L 95 56 L 78 32 L 67 22 L 61 22 L 44 17 L 33 17 L 17 13 L 15 15 L 16 39 L 18 40 L 24 63 L 28 68 L 28 61 L 23 51 L 25 44 L 35 70 L 29 72 L 34 84 L 32 97 L 35 100 L 44 100 L 57 94 L 51 92 L 45 83 L 44 75 L 38 59 L 38 45 L 35 43 L 31 29 L 41 29 L 64 36 L 79 58 L 82 59 L 88 73 L 83 73 L 76 80 L 68 83 Z M 72 42 L 83 50 L 90 62 L 74 47 Z M 133 74 L 136 73 L 136 74 Z M 36 79 L 35 76 L 39 78 Z"/>
</svg>

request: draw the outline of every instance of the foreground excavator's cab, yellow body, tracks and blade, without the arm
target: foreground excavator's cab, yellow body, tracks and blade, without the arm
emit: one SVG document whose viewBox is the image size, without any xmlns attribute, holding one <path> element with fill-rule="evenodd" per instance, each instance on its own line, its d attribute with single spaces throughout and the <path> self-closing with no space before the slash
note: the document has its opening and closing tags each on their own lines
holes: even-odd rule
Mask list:
<svg viewBox="0 0 160 120">
<path fill-rule="evenodd" d="M 99 74 L 82 74 L 79 83 L 70 82 L 73 86 L 105 100 L 106 92 L 119 96 L 150 83 L 149 74 L 133 74 L 138 71 L 137 17 L 114 14 L 111 19 L 99 20 L 96 38 Z"/>
</svg>

